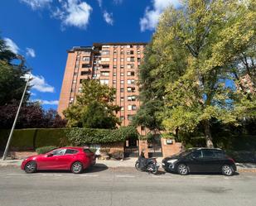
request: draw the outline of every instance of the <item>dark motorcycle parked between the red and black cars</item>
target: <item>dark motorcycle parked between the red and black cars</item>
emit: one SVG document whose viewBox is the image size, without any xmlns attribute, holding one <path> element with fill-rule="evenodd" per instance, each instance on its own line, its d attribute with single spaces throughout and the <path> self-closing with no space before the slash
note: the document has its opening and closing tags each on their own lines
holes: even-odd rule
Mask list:
<svg viewBox="0 0 256 206">
<path fill-rule="evenodd" d="M 143 162 L 140 162 L 143 161 Z M 136 170 L 148 171 L 156 175 L 158 172 L 159 165 L 157 165 L 156 158 L 145 158 L 143 160 L 137 160 L 135 163 Z"/>
</svg>

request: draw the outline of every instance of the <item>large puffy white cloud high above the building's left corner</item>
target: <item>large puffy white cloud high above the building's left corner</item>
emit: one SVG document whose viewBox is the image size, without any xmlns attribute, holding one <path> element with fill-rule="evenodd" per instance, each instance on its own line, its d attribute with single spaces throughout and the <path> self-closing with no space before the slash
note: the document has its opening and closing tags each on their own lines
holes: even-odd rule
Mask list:
<svg viewBox="0 0 256 206">
<path fill-rule="evenodd" d="M 77 26 L 86 28 L 93 8 L 80 0 L 61 1 L 61 8 L 57 7 L 53 17 L 61 20 L 63 26 Z"/>
</svg>

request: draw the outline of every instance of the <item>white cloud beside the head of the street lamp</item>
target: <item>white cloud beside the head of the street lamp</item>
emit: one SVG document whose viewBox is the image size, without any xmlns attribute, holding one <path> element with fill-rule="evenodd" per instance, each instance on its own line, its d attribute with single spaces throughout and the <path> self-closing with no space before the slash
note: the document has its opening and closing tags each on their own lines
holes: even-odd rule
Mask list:
<svg viewBox="0 0 256 206">
<path fill-rule="evenodd" d="M 29 74 L 25 74 L 25 78 L 28 79 L 29 78 Z M 46 83 L 46 79 L 41 76 L 41 75 L 34 75 L 31 74 L 30 76 L 30 86 L 31 89 L 35 89 L 41 93 L 54 93 L 55 89 L 53 86 L 51 86 L 50 84 Z"/>
</svg>

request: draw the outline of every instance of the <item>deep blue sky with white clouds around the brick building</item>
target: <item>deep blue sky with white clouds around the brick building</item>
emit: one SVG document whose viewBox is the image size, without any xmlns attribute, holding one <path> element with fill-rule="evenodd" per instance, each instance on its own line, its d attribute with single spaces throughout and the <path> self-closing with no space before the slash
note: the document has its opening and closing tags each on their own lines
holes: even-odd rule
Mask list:
<svg viewBox="0 0 256 206">
<path fill-rule="evenodd" d="M 150 41 L 163 9 L 178 0 L 2 0 L 0 36 L 24 55 L 31 100 L 57 108 L 66 50 L 94 42 Z"/>
</svg>

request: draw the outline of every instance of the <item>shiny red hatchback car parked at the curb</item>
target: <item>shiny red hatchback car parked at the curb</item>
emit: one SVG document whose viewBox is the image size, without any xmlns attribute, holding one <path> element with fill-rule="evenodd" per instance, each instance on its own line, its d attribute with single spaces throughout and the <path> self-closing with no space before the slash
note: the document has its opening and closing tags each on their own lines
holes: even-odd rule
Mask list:
<svg viewBox="0 0 256 206">
<path fill-rule="evenodd" d="M 79 174 L 94 164 L 94 152 L 88 147 L 68 146 L 46 154 L 29 156 L 22 161 L 21 168 L 27 173 L 33 173 L 36 170 L 71 170 Z"/>
</svg>

